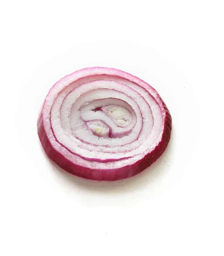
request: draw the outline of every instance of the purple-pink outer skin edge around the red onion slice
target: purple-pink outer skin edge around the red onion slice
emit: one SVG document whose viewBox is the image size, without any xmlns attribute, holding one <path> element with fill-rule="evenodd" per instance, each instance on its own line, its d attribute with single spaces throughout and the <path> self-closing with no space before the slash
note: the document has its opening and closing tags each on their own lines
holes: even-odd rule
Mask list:
<svg viewBox="0 0 224 256">
<path fill-rule="evenodd" d="M 71 162 L 69 159 L 65 158 L 60 151 L 57 151 L 53 147 L 50 140 L 48 139 L 48 135 L 46 134 L 46 130 L 44 128 L 44 121 L 43 121 L 43 109 L 44 109 L 45 101 L 39 113 L 38 121 L 37 121 L 38 136 L 39 136 L 40 142 L 46 154 L 51 160 L 53 160 L 56 164 L 58 164 L 62 169 L 76 176 L 80 176 L 80 177 L 91 179 L 91 180 L 97 180 L 97 181 L 115 181 L 115 180 L 120 180 L 120 179 L 134 176 L 139 172 L 143 171 L 144 169 L 146 169 L 147 167 L 149 167 L 152 163 L 154 163 L 156 159 L 158 159 L 166 149 L 168 142 L 170 140 L 170 134 L 171 134 L 171 128 L 172 128 L 172 118 L 171 118 L 170 112 L 166 104 L 163 102 L 162 98 L 156 92 L 156 90 L 152 88 L 149 84 L 145 83 L 143 80 L 140 80 L 139 78 L 131 74 L 128 74 L 126 72 L 123 72 L 121 70 L 114 69 L 114 68 L 100 68 L 100 67 L 84 68 L 84 69 L 75 71 L 74 73 L 88 71 L 88 70 L 91 70 L 91 72 L 96 70 L 96 74 L 108 73 L 109 75 L 111 75 L 114 72 L 114 75 L 119 74 L 119 76 L 132 80 L 137 84 L 138 82 L 140 82 L 141 84 L 144 83 L 145 85 L 147 85 L 148 88 L 150 88 L 149 92 L 153 92 L 154 94 L 156 93 L 155 101 L 159 104 L 162 112 L 162 117 L 163 117 L 163 132 L 162 132 L 162 138 L 160 142 L 150 153 L 145 155 L 144 158 L 140 159 L 139 161 L 131 165 L 126 165 L 116 169 L 105 169 L 105 170 L 92 169 L 92 168 L 80 166 L 78 164 Z M 98 72 L 98 70 L 100 70 L 100 72 Z M 74 73 L 70 75 L 73 75 Z M 92 74 L 93 73 L 91 73 L 91 75 Z M 64 78 L 62 78 L 61 80 L 63 80 Z M 54 86 L 57 86 L 58 82 Z"/>
</svg>

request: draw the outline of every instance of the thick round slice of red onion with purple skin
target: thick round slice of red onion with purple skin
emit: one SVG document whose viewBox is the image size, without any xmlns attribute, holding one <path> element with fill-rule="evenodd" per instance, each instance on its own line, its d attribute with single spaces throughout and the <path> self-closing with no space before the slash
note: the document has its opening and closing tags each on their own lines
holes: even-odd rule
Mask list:
<svg viewBox="0 0 224 256">
<path fill-rule="evenodd" d="M 159 94 L 114 68 L 84 68 L 59 80 L 38 116 L 41 144 L 64 170 L 92 180 L 134 176 L 164 152 L 172 119 Z"/>
</svg>

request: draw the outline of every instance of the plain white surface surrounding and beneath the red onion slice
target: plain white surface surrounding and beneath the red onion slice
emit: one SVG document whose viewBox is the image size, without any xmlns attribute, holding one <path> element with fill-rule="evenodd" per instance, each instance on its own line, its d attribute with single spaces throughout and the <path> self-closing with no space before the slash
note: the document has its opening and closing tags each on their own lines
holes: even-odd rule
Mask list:
<svg viewBox="0 0 224 256">
<path fill-rule="evenodd" d="M 223 1 L 8 1 L 1 6 L 0 254 L 223 255 Z M 173 118 L 166 152 L 119 182 L 48 160 L 50 87 L 91 66 L 150 83 Z"/>
</svg>

